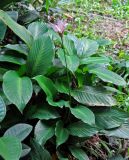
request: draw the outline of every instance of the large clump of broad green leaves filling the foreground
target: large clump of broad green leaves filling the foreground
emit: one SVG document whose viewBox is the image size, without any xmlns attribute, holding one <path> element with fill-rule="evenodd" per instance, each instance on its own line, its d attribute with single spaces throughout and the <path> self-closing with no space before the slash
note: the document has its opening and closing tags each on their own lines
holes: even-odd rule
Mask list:
<svg viewBox="0 0 129 160">
<path fill-rule="evenodd" d="M 1 48 L 0 55 L 4 159 L 73 155 L 88 160 L 84 140 L 96 134 L 128 138 L 128 114 L 114 107 L 116 89 L 105 86 L 126 82 L 107 69 L 108 57 L 96 54 L 97 42 L 71 35 L 60 38 L 42 22 L 26 29 L 2 10 L 0 19 L 20 38 Z M 96 78 L 105 85 L 98 85 Z"/>
</svg>

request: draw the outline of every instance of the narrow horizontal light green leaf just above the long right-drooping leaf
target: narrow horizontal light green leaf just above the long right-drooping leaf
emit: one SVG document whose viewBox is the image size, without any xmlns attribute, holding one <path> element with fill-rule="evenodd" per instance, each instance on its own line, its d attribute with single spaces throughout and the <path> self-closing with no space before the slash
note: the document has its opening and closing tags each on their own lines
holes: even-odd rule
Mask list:
<svg viewBox="0 0 129 160">
<path fill-rule="evenodd" d="M 80 64 L 109 64 L 108 57 L 88 57 L 80 60 Z"/>
</svg>

